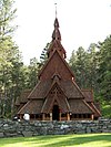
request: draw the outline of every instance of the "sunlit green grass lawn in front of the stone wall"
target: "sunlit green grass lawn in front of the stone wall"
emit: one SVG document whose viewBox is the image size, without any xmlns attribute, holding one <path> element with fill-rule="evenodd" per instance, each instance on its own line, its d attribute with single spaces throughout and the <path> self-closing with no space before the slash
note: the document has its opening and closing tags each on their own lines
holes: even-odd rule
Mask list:
<svg viewBox="0 0 111 147">
<path fill-rule="evenodd" d="M 111 134 L 0 138 L 0 147 L 111 147 Z"/>
</svg>

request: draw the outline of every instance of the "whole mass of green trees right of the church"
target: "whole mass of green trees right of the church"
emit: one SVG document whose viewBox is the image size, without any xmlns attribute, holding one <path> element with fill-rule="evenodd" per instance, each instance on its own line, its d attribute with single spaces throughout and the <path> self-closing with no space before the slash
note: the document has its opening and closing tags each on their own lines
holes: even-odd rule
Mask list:
<svg viewBox="0 0 111 147">
<path fill-rule="evenodd" d="M 93 88 L 95 98 L 111 106 L 111 35 L 103 42 L 91 43 L 72 52 L 69 64 L 81 88 Z"/>
</svg>

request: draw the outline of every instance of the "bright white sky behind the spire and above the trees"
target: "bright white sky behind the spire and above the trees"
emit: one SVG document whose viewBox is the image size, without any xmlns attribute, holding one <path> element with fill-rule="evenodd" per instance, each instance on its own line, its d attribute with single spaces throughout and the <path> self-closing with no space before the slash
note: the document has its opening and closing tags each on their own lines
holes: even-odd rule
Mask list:
<svg viewBox="0 0 111 147">
<path fill-rule="evenodd" d="M 67 59 L 79 46 L 87 50 L 91 43 L 111 34 L 111 0 L 16 0 L 18 30 L 14 41 L 24 64 L 32 57 L 39 60 L 47 43 L 51 42 L 54 3 Z"/>
</svg>

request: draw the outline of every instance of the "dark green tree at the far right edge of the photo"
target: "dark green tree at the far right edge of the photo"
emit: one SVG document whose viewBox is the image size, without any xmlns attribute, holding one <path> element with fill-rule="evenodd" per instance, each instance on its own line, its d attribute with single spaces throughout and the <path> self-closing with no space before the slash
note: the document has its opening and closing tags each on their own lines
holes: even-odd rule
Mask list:
<svg viewBox="0 0 111 147">
<path fill-rule="evenodd" d="M 100 94 L 105 101 L 111 102 L 111 35 L 99 42 L 99 78 Z"/>
</svg>

